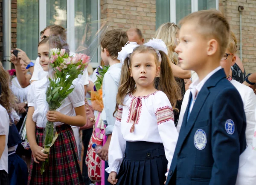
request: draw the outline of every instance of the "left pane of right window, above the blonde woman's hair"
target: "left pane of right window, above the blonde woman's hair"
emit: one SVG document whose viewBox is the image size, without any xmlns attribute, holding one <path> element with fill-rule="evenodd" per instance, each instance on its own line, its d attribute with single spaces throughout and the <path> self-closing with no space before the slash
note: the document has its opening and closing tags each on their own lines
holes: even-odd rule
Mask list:
<svg viewBox="0 0 256 185">
<path fill-rule="evenodd" d="M 156 1 L 156 29 L 163 23 L 170 22 L 170 0 Z"/>
</svg>

